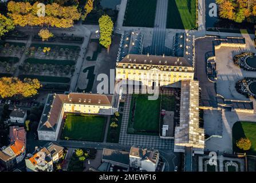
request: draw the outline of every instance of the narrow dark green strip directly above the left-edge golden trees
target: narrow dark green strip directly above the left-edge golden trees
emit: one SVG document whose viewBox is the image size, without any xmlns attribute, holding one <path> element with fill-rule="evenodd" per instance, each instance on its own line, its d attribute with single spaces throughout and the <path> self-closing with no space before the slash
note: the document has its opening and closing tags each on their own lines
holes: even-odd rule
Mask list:
<svg viewBox="0 0 256 183">
<path fill-rule="evenodd" d="M 41 82 L 63 82 L 68 83 L 70 81 L 70 78 L 68 77 L 53 77 L 53 76 L 45 76 L 45 75 L 19 75 L 19 79 L 24 78 L 32 78 L 32 79 L 38 79 Z"/>
</svg>

